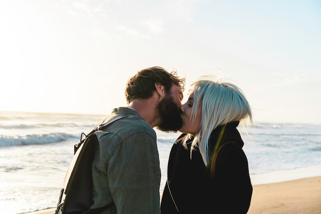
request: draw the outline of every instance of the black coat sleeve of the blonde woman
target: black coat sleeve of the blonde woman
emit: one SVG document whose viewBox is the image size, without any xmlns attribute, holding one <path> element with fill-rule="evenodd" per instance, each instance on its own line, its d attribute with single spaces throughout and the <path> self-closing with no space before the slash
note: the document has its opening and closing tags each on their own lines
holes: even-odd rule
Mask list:
<svg viewBox="0 0 321 214">
<path fill-rule="evenodd" d="M 237 144 L 226 144 L 218 152 L 212 182 L 215 213 L 247 213 L 253 189 L 246 155 Z"/>
</svg>

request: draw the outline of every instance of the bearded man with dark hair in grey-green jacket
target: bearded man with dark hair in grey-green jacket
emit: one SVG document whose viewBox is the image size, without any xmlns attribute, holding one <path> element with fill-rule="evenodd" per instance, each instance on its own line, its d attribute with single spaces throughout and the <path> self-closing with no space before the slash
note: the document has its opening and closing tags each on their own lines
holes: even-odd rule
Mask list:
<svg viewBox="0 0 321 214">
<path fill-rule="evenodd" d="M 102 131 L 92 165 L 92 209 L 114 203 L 107 213 L 160 213 L 160 168 L 153 127 L 176 132 L 185 79 L 161 67 L 138 71 L 127 82 L 127 107 L 113 109 L 101 124 L 128 115 Z"/>
</svg>

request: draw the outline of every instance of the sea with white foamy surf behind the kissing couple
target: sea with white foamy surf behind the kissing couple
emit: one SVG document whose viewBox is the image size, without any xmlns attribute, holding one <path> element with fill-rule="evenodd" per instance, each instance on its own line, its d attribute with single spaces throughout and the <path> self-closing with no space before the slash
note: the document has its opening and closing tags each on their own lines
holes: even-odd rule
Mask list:
<svg viewBox="0 0 321 214">
<path fill-rule="evenodd" d="M 1 212 L 55 207 L 74 144 L 103 118 L 105 115 L 0 111 Z M 155 131 L 162 194 L 169 152 L 180 132 Z M 321 124 L 254 123 L 239 131 L 253 185 L 321 176 Z"/>
</svg>

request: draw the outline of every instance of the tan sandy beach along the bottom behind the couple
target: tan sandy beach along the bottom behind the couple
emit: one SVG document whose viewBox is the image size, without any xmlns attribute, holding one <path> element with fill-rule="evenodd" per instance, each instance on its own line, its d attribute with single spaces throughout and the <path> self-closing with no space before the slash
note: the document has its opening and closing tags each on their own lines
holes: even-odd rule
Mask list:
<svg viewBox="0 0 321 214">
<path fill-rule="evenodd" d="M 52 214 L 46 209 L 30 214 Z M 321 177 L 253 186 L 248 214 L 321 214 Z"/>
</svg>

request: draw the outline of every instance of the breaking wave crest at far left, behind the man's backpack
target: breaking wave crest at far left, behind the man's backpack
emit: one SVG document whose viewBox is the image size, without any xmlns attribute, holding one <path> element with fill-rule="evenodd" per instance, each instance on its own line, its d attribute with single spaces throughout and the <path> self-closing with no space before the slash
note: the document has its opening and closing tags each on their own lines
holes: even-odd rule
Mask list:
<svg viewBox="0 0 321 214">
<path fill-rule="evenodd" d="M 0 146 L 23 146 L 33 144 L 48 144 L 66 141 L 68 138 L 79 138 L 78 135 L 67 133 L 28 134 L 25 136 L 0 135 Z"/>
</svg>

